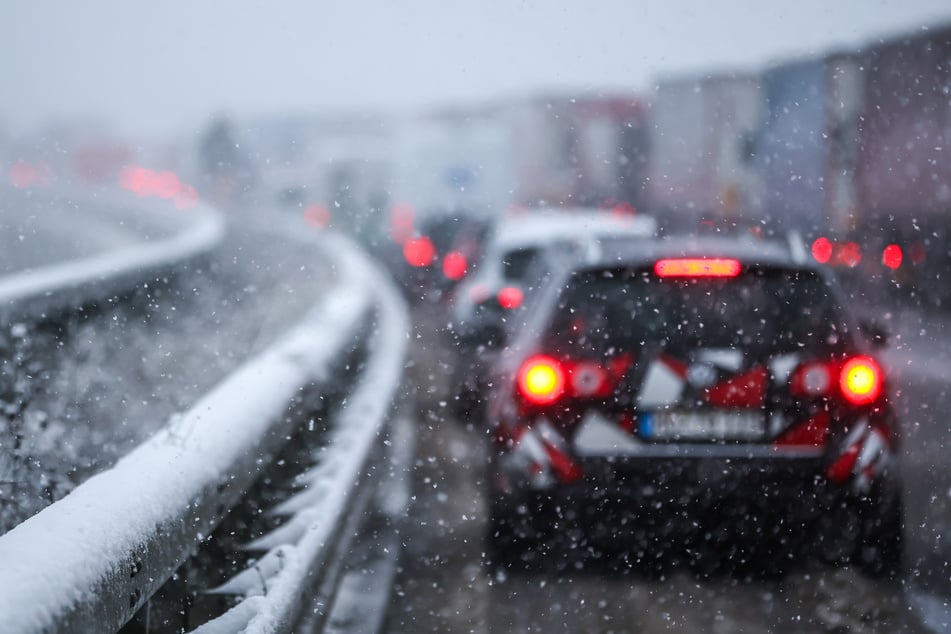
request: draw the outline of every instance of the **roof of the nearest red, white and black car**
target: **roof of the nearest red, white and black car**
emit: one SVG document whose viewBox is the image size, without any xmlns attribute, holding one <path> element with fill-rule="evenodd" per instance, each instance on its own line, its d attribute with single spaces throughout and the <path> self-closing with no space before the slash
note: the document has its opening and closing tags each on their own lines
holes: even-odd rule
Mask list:
<svg viewBox="0 0 951 634">
<path fill-rule="evenodd" d="M 599 252 L 588 257 L 579 268 L 585 270 L 611 267 L 648 266 L 662 258 L 699 257 L 734 258 L 744 264 L 791 269 L 818 269 L 804 256 L 804 249 L 794 241 L 763 240 L 749 236 L 670 235 L 656 240 L 610 238 L 602 240 Z"/>
</svg>

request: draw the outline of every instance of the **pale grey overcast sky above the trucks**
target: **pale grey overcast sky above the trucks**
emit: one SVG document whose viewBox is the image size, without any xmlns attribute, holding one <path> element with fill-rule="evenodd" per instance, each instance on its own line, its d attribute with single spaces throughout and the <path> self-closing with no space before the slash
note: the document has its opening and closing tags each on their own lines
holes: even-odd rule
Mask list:
<svg viewBox="0 0 951 634">
<path fill-rule="evenodd" d="M 413 108 L 647 89 L 951 23 L 948 0 L 30 0 L 0 4 L 0 122 Z"/>
</svg>

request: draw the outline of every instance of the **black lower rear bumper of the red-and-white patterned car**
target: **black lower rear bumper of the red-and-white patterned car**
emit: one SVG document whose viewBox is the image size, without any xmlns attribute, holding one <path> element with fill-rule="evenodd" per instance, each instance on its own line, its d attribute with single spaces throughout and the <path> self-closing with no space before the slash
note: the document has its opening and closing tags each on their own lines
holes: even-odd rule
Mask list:
<svg viewBox="0 0 951 634">
<path fill-rule="evenodd" d="M 496 470 L 490 478 L 494 504 L 540 527 L 555 521 L 587 534 L 616 537 L 637 527 L 686 535 L 731 524 L 752 524 L 744 532 L 765 534 L 808 531 L 845 508 L 876 515 L 900 488 L 886 471 L 869 491 L 856 493 L 825 477 L 824 457 L 600 459 L 582 465 L 581 479 L 544 489 Z"/>
</svg>

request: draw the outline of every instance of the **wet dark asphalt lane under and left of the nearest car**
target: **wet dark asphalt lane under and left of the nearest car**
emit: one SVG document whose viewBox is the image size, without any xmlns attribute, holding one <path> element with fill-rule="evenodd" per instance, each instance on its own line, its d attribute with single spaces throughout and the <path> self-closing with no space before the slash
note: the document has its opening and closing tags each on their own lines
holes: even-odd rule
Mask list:
<svg viewBox="0 0 951 634">
<path fill-rule="evenodd" d="M 439 321 L 437 311 L 417 311 L 414 500 L 389 634 L 932 631 L 908 600 L 913 573 L 888 582 L 804 562 L 782 576 L 705 576 L 677 565 L 645 572 L 583 560 L 564 570 L 490 573 L 484 439 L 449 413 L 452 356 Z"/>
</svg>

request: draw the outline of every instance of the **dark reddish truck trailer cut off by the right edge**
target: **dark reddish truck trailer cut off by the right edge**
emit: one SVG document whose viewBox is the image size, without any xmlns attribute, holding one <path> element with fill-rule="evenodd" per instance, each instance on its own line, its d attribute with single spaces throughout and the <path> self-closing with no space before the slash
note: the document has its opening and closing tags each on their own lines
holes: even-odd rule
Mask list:
<svg viewBox="0 0 951 634">
<path fill-rule="evenodd" d="M 895 278 L 951 300 L 951 26 L 865 51 L 857 196 L 869 251 L 897 244 Z M 874 251 L 873 251 L 874 252 Z M 876 253 L 877 257 L 881 252 Z"/>
</svg>

